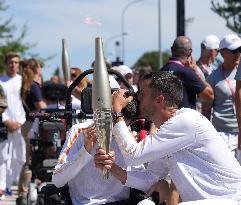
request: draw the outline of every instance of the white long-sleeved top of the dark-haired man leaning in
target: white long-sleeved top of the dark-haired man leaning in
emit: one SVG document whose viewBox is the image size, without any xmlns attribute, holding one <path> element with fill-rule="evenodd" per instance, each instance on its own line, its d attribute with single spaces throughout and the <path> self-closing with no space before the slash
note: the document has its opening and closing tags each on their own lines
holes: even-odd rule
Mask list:
<svg viewBox="0 0 241 205">
<path fill-rule="evenodd" d="M 241 167 L 212 124 L 199 112 L 182 108 L 157 134 L 136 143 L 125 122 L 113 134 L 127 165 L 150 161 L 146 172 L 129 172 L 126 186 L 146 190 L 170 171 L 183 201 L 208 198 L 241 200 Z M 145 186 L 147 184 L 147 186 Z M 151 183 L 150 183 L 151 184 Z"/>
</svg>

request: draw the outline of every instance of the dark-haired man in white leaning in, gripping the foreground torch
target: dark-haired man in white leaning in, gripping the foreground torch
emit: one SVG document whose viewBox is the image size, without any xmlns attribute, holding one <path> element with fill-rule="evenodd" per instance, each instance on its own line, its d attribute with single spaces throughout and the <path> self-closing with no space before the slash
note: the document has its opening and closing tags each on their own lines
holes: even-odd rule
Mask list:
<svg viewBox="0 0 241 205">
<path fill-rule="evenodd" d="M 112 95 L 114 112 L 120 112 L 132 97 L 125 90 Z M 149 184 L 163 179 L 170 171 L 184 202 L 228 199 L 227 204 L 241 201 L 241 166 L 220 138 L 212 124 L 190 108 L 178 109 L 182 100 L 182 83 L 169 72 L 144 77 L 140 84 L 140 113 L 159 127 L 157 133 L 137 143 L 119 117 L 114 122 L 113 136 L 129 166 L 149 161 L 145 171 L 128 171 L 113 166 L 113 153 L 97 150 L 97 167 L 110 169 L 125 186 L 147 191 Z M 220 151 L 221 150 L 221 151 Z M 163 190 L 163 198 L 165 197 Z"/>
</svg>

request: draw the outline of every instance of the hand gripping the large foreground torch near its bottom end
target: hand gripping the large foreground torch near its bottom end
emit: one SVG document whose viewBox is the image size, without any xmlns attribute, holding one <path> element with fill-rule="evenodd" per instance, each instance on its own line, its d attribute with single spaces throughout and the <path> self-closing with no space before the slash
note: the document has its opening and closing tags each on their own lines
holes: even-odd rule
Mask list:
<svg viewBox="0 0 241 205">
<path fill-rule="evenodd" d="M 96 154 L 94 156 L 94 162 L 97 168 L 110 170 L 114 161 L 115 161 L 114 151 L 110 151 L 107 154 L 106 151 L 101 148 L 96 150 Z"/>
</svg>

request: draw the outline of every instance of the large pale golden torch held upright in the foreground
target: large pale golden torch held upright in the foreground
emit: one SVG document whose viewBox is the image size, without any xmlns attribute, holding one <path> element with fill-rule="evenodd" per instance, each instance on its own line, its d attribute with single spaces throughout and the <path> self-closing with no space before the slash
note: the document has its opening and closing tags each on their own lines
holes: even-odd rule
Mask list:
<svg viewBox="0 0 241 205">
<path fill-rule="evenodd" d="M 112 99 L 102 40 L 95 39 L 95 65 L 92 84 L 92 108 L 99 146 L 110 150 L 112 137 Z M 109 178 L 109 171 L 103 170 L 103 178 Z"/>
</svg>

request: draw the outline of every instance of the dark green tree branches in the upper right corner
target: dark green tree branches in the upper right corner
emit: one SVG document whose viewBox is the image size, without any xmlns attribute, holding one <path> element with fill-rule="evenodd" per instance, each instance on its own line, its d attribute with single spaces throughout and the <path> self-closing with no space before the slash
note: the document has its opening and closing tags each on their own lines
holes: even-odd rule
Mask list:
<svg viewBox="0 0 241 205">
<path fill-rule="evenodd" d="M 223 5 L 212 2 L 212 11 L 226 20 L 226 26 L 232 31 L 241 34 L 241 1 L 224 0 Z"/>
</svg>

